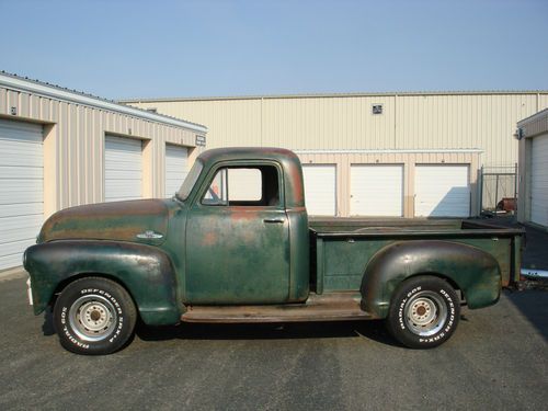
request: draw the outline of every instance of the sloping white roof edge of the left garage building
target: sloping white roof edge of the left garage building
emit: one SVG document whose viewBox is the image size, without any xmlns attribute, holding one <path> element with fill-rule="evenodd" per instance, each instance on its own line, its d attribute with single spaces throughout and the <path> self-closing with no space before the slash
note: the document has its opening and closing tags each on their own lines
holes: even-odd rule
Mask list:
<svg viewBox="0 0 548 411">
<path fill-rule="evenodd" d="M 7 89 L 31 92 L 33 94 L 68 101 L 76 104 L 123 113 L 139 118 L 146 118 L 156 123 L 168 124 L 175 127 L 183 127 L 198 133 L 207 133 L 207 127 L 170 117 L 163 114 L 151 113 L 146 110 L 118 104 L 117 102 L 102 99 L 92 94 L 87 94 L 76 90 L 69 90 L 47 82 L 23 78 L 16 75 L 0 71 L 0 85 Z"/>
</svg>

